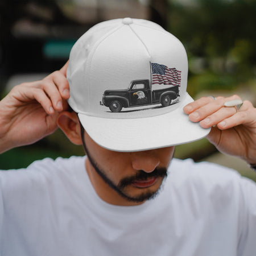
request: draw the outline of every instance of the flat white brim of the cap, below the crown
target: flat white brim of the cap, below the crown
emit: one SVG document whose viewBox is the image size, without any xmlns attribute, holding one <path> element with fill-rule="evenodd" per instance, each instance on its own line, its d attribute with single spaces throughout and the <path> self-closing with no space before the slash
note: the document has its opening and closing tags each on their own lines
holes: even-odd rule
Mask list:
<svg viewBox="0 0 256 256">
<path fill-rule="evenodd" d="M 183 107 L 193 99 L 187 93 L 179 108 L 154 117 L 101 118 L 79 114 L 94 142 L 108 150 L 129 152 L 175 146 L 204 138 L 210 129 L 189 121 Z"/>
</svg>

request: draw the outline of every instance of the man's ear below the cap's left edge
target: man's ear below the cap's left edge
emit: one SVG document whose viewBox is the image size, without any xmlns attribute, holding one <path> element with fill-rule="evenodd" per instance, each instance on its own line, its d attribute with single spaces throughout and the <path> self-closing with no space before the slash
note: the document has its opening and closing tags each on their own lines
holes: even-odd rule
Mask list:
<svg viewBox="0 0 256 256">
<path fill-rule="evenodd" d="M 80 122 L 75 112 L 61 112 L 57 117 L 57 125 L 69 141 L 77 145 L 82 144 Z"/>
</svg>

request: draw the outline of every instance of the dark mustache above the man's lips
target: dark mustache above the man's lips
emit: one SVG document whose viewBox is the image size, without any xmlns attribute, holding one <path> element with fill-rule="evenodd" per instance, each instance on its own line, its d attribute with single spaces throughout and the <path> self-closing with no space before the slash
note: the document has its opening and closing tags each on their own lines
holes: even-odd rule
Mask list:
<svg viewBox="0 0 256 256">
<path fill-rule="evenodd" d="M 119 183 L 119 188 L 125 188 L 136 180 L 147 180 L 152 177 L 167 177 L 167 168 L 155 168 L 152 172 L 144 172 L 139 170 L 137 174 L 123 178 Z"/>
</svg>

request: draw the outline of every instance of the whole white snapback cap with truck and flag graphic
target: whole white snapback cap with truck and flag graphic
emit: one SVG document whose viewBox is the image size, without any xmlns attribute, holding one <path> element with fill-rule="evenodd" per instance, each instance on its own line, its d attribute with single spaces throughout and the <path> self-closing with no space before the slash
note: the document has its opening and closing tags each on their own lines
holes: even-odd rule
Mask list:
<svg viewBox="0 0 256 256">
<path fill-rule="evenodd" d="M 205 137 L 183 107 L 188 60 L 183 44 L 158 24 L 114 19 L 90 28 L 73 46 L 69 105 L 90 138 L 114 151 L 143 151 Z"/>
</svg>

